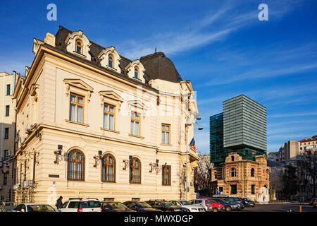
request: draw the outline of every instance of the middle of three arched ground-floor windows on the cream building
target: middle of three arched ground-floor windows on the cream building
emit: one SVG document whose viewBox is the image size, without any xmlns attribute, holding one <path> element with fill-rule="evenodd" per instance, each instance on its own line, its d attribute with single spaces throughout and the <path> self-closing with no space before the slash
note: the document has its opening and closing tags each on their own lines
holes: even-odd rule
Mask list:
<svg viewBox="0 0 317 226">
<path fill-rule="evenodd" d="M 101 181 L 102 182 L 116 182 L 116 159 L 113 155 L 106 154 L 101 160 L 102 162 L 102 172 Z"/>
</svg>

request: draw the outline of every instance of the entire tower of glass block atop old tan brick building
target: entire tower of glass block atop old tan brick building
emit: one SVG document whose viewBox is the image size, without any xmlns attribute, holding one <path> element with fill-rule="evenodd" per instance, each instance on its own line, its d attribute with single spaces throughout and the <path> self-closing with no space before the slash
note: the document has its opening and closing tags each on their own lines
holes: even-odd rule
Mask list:
<svg viewBox="0 0 317 226">
<path fill-rule="evenodd" d="M 210 117 L 211 194 L 268 201 L 266 107 L 245 95 L 223 102 Z"/>
</svg>

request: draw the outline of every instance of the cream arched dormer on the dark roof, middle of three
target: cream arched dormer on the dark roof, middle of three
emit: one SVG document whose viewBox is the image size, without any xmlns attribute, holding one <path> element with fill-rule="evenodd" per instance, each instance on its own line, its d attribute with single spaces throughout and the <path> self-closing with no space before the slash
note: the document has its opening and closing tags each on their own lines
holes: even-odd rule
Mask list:
<svg viewBox="0 0 317 226">
<path fill-rule="evenodd" d="M 121 57 L 115 47 L 107 47 L 106 49 L 102 49 L 97 57 L 100 59 L 101 66 L 121 73 L 119 66 Z"/>
</svg>

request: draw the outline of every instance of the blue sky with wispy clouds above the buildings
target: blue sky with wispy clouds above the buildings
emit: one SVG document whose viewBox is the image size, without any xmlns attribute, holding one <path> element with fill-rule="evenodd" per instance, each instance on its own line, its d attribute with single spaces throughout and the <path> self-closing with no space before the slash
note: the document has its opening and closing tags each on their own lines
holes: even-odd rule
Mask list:
<svg viewBox="0 0 317 226">
<path fill-rule="evenodd" d="M 57 6 L 57 21 L 46 6 Z M 268 21 L 258 19 L 268 5 Z M 197 91 L 209 153 L 209 117 L 247 95 L 267 108 L 268 151 L 317 134 L 317 1 L 1 1 L 0 71 L 25 73 L 33 37 L 83 30 L 130 59 L 164 52 Z"/>
</svg>

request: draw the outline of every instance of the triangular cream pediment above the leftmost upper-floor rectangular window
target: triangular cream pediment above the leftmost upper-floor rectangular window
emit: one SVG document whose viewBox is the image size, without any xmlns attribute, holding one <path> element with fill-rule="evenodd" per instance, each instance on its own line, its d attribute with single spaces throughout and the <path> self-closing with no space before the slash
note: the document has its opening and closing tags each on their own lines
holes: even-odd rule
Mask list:
<svg viewBox="0 0 317 226">
<path fill-rule="evenodd" d="M 80 79 L 64 79 L 66 84 L 66 95 L 70 92 L 78 93 L 80 95 L 87 96 L 87 100 L 90 101 L 93 88 Z"/>
</svg>

